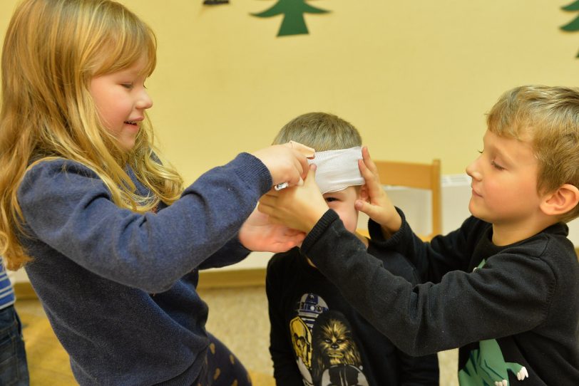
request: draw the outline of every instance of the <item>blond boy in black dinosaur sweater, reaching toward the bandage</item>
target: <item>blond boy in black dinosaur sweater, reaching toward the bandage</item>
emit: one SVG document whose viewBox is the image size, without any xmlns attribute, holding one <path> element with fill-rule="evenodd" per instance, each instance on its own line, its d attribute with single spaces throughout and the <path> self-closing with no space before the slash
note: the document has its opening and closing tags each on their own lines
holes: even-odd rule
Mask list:
<svg viewBox="0 0 579 386">
<path fill-rule="evenodd" d="M 579 385 L 579 263 L 565 225 L 579 214 L 579 90 L 508 90 L 487 123 L 481 155 L 466 168 L 472 216 L 431 243 L 391 204 L 364 151 L 369 199 L 357 209 L 371 217 L 376 243 L 419 269 L 418 286 L 354 246 L 314 194 L 313 170 L 260 210 L 307 232 L 302 253 L 398 348 L 460 348 L 461 385 Z"/>
</svg>

